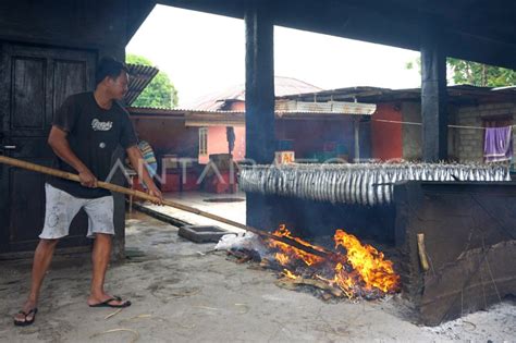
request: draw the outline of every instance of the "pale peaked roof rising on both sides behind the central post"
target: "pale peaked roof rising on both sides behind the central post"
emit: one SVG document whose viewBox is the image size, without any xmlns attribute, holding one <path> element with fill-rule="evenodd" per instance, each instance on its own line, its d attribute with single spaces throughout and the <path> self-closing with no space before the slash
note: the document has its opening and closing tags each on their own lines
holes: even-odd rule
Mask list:
<svg viewBox="0 0 516 343">
<path fill-rule="evenodd" d="M 300 93 L 321 91 L 322 88 L 310 85 L 293 77 L 274 77 L 274 94 L 277 97 Z M 245 84 L 236 85 L 220 91 L 216 91 L 186 105 L 186 108 L 196 110 L 224 110 L 232 101 L 245 101 Z"/>
</svg>

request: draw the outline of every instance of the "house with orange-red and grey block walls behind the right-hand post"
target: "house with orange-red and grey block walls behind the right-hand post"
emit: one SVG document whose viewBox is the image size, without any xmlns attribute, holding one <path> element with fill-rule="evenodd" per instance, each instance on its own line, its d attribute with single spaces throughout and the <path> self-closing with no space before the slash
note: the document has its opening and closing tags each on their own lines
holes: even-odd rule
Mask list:
<svg viewBox="0 0 516 343">
<path fill-rule="evenodd" d="M 379 160 L 421 160 L 420 88 L 389 89 L 348 87 L 283 99 L 374 103 L 368 123 L 371 157 Z M 469 85 L 447 87 L 449 155 L 459 162 L 483 161 L 483 127 L 515 124 L 516 87 L 490 88 Z M 513 136 L 516 133 L 513 130 Z M 514 139 L 513 139 L 514 140 Z"/>
</svg>

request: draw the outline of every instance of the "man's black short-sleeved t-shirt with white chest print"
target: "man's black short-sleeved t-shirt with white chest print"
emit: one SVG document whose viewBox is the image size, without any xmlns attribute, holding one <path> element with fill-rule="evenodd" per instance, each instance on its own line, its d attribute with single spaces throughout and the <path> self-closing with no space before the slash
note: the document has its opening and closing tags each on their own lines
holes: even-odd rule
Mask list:
<svg viewBox="0 0 516 343">
<path fill-rule="evenodd" d="M 111 171 L 111 158 L 119 144 L 130 148 L 137 144 L 128 113 L 113 101 L 111 109 L 100 108 L 93 93 L 73 95 L 56 112 L 52 125 L 67 132 L 72 151 L 86 164 L 99 181 L 106 181 Z M 66 162 L 56 157 L 53 167 L 77 173 Z M 77 182 L 49 177 L 48 182 L 75 197 L 99 198 L 111 193 L 102 188 L 88 188 Z"/>
</svg>

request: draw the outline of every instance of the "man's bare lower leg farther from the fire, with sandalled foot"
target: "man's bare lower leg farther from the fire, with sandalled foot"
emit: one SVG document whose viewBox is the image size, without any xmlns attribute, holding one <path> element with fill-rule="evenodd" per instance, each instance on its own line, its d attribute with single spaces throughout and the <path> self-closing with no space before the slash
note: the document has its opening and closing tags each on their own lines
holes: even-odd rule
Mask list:
<svg viewBox="0 0 516 343">
<path fill-rule="evenodd" d="M 56 245 L 58 245 L 59 240 L 40 240 L 36 252 L 34 253 L 34 262 L 33 262 L 33 272 L 30 279 L 30 293 L 28 298 L 23 305 L 22 310 L 28 313 L 30 309 L 37 307 L 39 299 L 39 291 L 41 290 L 41 284 L 45 279 L 45 275 L 50 267 L 52 261 L 53 252 L 56 250 Z M 27 316 L 17 314 L 14 319 L 16 321 L 23 322 L 25 320 L 32 320 L 34 315 Z"/>
</svg>

